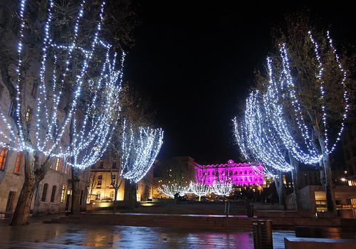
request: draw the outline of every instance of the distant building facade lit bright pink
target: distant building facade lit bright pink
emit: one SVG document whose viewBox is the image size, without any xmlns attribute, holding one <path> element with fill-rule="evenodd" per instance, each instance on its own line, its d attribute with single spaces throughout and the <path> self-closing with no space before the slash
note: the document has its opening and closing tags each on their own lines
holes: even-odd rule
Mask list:
<svg viewBox="0 0 356 249">
<path fill-rule="evenodd" d="M 233 185 L 251 186 L 263 185 L 263 169 L 261 163 L 234 163 L 229 160 L 227 164 L 211 164 L 196 166 L 197 182 L 212 186 L 219 177 L 220 182 L 229 181 Z"/>
</svg>

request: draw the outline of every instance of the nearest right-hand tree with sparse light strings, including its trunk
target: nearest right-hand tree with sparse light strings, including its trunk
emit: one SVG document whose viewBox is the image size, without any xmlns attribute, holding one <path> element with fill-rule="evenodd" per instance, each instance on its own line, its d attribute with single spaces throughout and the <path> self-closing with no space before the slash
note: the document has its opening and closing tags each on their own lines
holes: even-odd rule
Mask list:
<svg viewBox="0 0 356 249">
<path fill-rule="evenodd" d="M 329 33 L 326 39 L 318 37 L 320 43 L 315 41 L 310 31 L 303 37 L 308 43 L 298 43 L 298 48 L 286 43 L 288 47 L 281 50 L 283 70 L 288 72 L 288 78 L 276 85 L 274 99 L 277 102 L 271 102 L 278 107 L 278 112 L 273 112 L 274 124 L 293 158 L 305 164 L 319 164 L 328 211 L 336 213 L 329 155 L 340 140 L 347 117 L 346 71 Z M 294 49 L 299 50 L 298 56 Z M 305 54 L 300 55 L 300 51 Z M 300 73 L 295 73 L 297 70 Z M 283 95 L 285 97 L 281 100 Z M 298 124 L 298 134 L 290 133 L 290 123 L 286 122 L 293 119 Z M 306 150 L 303 151 L 295 137 L 303 137 Z M 334 142 L 330 143 L 330 139 Z"/>
</svg>

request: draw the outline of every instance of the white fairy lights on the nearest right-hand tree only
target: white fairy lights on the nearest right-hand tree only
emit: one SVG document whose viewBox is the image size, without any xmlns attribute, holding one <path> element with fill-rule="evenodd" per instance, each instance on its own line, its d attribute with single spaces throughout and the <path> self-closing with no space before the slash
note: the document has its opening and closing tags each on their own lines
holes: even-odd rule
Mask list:
<svg viewBox="0 0 356 249">
<path fill-rule="evenodd" d="M 318 82 L 320 82 L 320 99 L 325 102 L 325 87 L 324 87 L 324 81 L 323 81 L 323 63 L 321 62 L 321 58 L 319 55 L 319 46 L 318 43 L 316 43 L 313 39 L 313 36 L 311 36 L 311 32 L 309 32 L 310 35 L 310 42 L 313 43 L 315 46 L 315 58 L 318 60 L 318 68 L 319 68 L 319 73 L 316 76 L 318 78 Z M 328 40 L 330 43 L 330 47 L 333 49 L 333 54 L 335 56 L 335 59 L 337 60 L 337 66 L 342 73 L 342 80 L 340 84 L 342 87 L 345 89 L 345 80 L 346 80 L 346 71 L 343 70 L 342 65 L 340 63 L 340 59 L 336 53 L 335 48 L 333 47 L 332 40 L 330 38 L 330 35 L 328 33 Z M 305 118 L 303 117 L 303 111 L 302 108 L 300 107 L 300 103 L 298 101 L 298 95 L 295 92 L 295 85 L 293 84 L 293 78 L 290 75 L 290 68 L 289 68 L 289 61 L 288 61 L 288 53 L 286 51 L 286 46 L 283 45 L 281 46 L 281 58 L 283 59 L 283 74 L 284 77 L 282 77 L 283 80 L 280 81 L 273 81 L 271 85 L 273 87 L 268 88 L 268 97 L 266 98 L 266 109 L 270 110 L 273 109 L 271 113 L 273 113 L 275 119 L 277 122 L 274 122 L 273 124 L 276 125 L 276 130 L 279 132 L 281 139 L 283 139 L 284 144 L 286 147 L 292 152 L 293 157 L 295 159 L 298 159 L 298 161 L 301 161 L 305 164 L 315 164 L 320 159 L 323 157 L 323 154 L 318 154 L 318 152 L 313 148 L 312 142 L 311 142 L 311 136 L 309 135 L 310 132 L 308 129 L 308 126 L 305 124 Z M 271 77 L 271 61 L 268 62 L 268 68 L 269 68 L 269 74 L 270 78 Z M 279 84 L 279 85 L 278 85 Z M 295 116 L 295 120 L 298 124 L 298 128 L 300 129 L 300 132 L 302 133 L 302 137 L 305 141 L 305 144 L 308 147 L 308 152 L 305 153 L 303 152 L 303 149 L 301 149 L 298 145 L 297 142 L 295 142 L 295 139 L 293 139 L 293 136 L 290 134 L 289 129 L 288 129 L 288 124 L 286 124 L 286 120 L 283 118 L 283 113 L 286 112 L 286 110 L 283 108 L 283 105 L 277 104 L 278 103 L 278 98 L 280 96 L 286 97 L 285 92 L 288 92 L 288 97 L 290 97 L 291 103 L 293 105 L 293 113 Z M 345 110 L 342 115 L 342 122 L 340 124 L 340 131 L 337 134 L 337 138 L 335 139 L 335 143 L 329 149 L 328 147 L 328 124 L 326 122 L 326 117 L 327 117 L 327 110 L 325 109 L 325 103 L 321 107 L 321 112 L 323 115 L 323 134 L 325 137 L 325 152 L 327 154 L 330 154 L 333 152 L 335 149 L 335 146 L 338 141 L 340 141 L 340 136 L 342 134 L 342 131 L 345 127 L 345 119 L 347 117 L 347 111 L 348 111 L 348 97 L 347 97 L 347 90 L 344 90 L 343 93 L 343 98 L 345 101 Z"/>
</svg>

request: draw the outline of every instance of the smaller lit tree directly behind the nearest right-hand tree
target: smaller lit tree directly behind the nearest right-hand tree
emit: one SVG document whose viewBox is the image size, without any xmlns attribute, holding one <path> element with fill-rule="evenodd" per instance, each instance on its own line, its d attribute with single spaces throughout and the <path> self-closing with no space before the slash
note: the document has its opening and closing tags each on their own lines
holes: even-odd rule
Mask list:
<svg viewBox="0 0 356 249">
<path fill-rule="evenodd" d="M 246 100 L 246 110 L 241 122 L 237 121 L 237 117 L 233 120 L 234 134 L 244 157 L 262 161 L 263 170 L 268 171 L 268 176 L 273 176 L 279 203 L 286 207 L 282 171 L 290 171 L 293 167 L 285 159 L 286 148 L 273 127 L 273 120 L 266 112 L 263 97 L 265 96 L 259 91 L 251 92 Z M 277 174 L 271 174 L 271 170 L 267 170 L 266 166 L 275 169 Z M 297 186 L 295 183 L 295 189 Z M 300 210 L 298 205 L 297 210 Z"/>
</svg>

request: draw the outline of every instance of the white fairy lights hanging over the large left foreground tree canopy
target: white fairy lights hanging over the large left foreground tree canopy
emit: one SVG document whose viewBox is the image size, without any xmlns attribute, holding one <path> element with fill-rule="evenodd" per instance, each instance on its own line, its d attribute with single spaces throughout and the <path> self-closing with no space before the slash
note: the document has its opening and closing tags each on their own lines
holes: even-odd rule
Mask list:
<svg viewBox="0 0 356 249">
<path fill-rule="evenodd" d="M 91 42 L 90 49 L 85 49 L 77 45 L 78 35 L 80 31 L 80 21 L 83 18 L 85 1 L 80 4 L 80 11 L 75 20 L 74 36 L 71 43 L 66 45 L 58 45 L 51 37 L 51 27 L 53 26 L 53 1 L 49 1 L 48 18 L 44 27 L 43 48 L 41 57 L 41 69 L 39 72 L 40 83 L 38 85 L 38 95 L 36 98 L 35 113 L 32 121 L 32 126 L 35 128 L 34 134 L 31 134 L 31 139 L 34 137 L 33 147 L 31 144 L 26 144 L 23 139 L 21 122 L 17 120 L 19 127 L 19 136 L 14 131 L 14 125 L 11 124 L 11 119 L 6 118 L 3 112 L 0 112 L 1 120 L 6 124 L 9 129 L 9 135 L 5 134 L 2 130 L 0 134 L 9 143 L 0 142 L 3 147 L 23 151 L 23 149 L 34 149 L 45 155 L 67 159 L 71 157 L 73 161 L 68 164 L 84 168 L 94 164 L 100 157 L 110 141 L 112 132 L 111 129 L 115 127 L 117 122 L 113 113 L 120 110 L 118 105 L 119 93 L 121 90 L 120 83 L 122 81 L 122 70 L 115 70 L 116 55 L 110 60 L 110 44 L 100 41 L 99 33 L 101 23 L 103 21 L 103 8 L 105 3 L 100 8 L 100 21 L 95 28 L 93 41 Z M 21 60 L 21 53 L 23 51 L 23 30 L 25 28 L 25 7 L 26 0 L 21 1 L 20 18 L 20 41 L 19 41 L 19 63 L 17 68 L 18 80 L 16 85 L 17 90 L 17 109 L 16 115 L 19 117 L 21 108 L 21 101 L 19 97 L 26 97 L 26 94 L 20 92 L 21 82 L 21 68 L 23 68 L 23 61 Z M 69 78 L 69 73 L 73 74 L 70 66 L 73 64 L 73 53 L 81 56 L 83 60 L 78 63 L 78 73 L 75 74 L 73 80 L 73 100 L 71 100 L 70 110 L 68 115 L 63 120 L 61 127 L 59 127 L 59 118 L 63 116 L 63 112 L 59 109 L 61 101 L 64 99 L 63 92 L 65 89 L 66 80 Z M 58 55 L 66 58 L 63 61 L 63 71 L 60 71 L 60 59 Z M 90 75 L 90 63 L 93 58 L 102 57 L 103 63 L 100 69 L 100 75 L 95 75 L 95 80 L 92 80 L 93 75 Z M 122 63 L 125 53 L 122 53 Z M 97 61 L 95 61 L 97 62 Z M 53 64 L 53 70 L 48 70 L 47 66 Z M 122 66 L 122 64 L 121 64 Z M 100 68 L 100 65 L 99 65 Z M 119 80 L 120 79 L 120 80 Z M 117 81 L 119 81 L 117 83 Z M 52 83 L 52 85 L 49 85 Z M 79 107 L 80 97 L 84 92 L 85 84 L 91 90 L 91 101 L 86 107 Z M 23 89 L 25 90 L 25 89 Z M 23 93 L 23 95 L 21 95 Z M 79 123 L 76 119 L 78 111 L 84 112 L 83 123 Z M 12 121 L 13 122 L 13 121 Z M 33 124 L 34 123 L 34 124 Z M 68 139 L 68 127 L 70 124 L 73 126 L 73 141 L 71 144 L 66 144 L 63 140 Z M 30 128 L 28 128 L 30 129 Z M 11 145 L 9 145 L 11 144 Z"/>
</svg>

